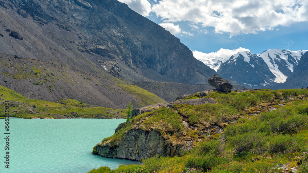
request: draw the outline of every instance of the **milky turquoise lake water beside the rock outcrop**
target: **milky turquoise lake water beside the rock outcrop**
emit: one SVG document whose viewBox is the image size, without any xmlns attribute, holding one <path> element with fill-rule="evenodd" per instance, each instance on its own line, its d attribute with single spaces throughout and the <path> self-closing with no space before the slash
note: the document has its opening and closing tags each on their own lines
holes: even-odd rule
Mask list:
<svg viewBox="0 0 308 173">
<path fill-rule="evenodd" d="M 92 148 L 126 119 L 31 120 L 10 118 L 9 150 L 0 119 L 0 172 L 85 173 L 93 168 L 139 162 L 92 155 Z M 9 169 L 5 152 L 9 151 Z"/>
</svg>

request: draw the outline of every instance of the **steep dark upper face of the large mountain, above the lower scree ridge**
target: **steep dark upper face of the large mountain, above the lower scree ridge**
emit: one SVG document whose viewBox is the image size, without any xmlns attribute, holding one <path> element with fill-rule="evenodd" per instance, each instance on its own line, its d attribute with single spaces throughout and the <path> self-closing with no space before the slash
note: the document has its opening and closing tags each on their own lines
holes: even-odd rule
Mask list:
<svg viewBox="0 0 308 173">
<path fill-rule="evenodd" d="M 0 16 L 0 53 L 60 65 L 70 74 L 116 83 L 114 76 L 145 89 L 156 81 L 207 84 L 215 74 L 169 31 L 115 0 L 0 0 Z"/>
</svg>

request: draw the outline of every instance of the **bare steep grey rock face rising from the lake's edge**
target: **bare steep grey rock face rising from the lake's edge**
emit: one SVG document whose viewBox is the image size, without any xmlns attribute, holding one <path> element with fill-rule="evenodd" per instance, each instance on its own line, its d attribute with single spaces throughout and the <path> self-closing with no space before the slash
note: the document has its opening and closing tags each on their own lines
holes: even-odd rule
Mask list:
<svg viewBox="0 0 308 173">
<path fill-rule="evenodd" d="M 130 129 L 118 146 L 98 144 L 97 154 L 108 158 L 141 160 L 154 155 L 174 156 L 180 154 L 182 145 L 164 140 L 156 131 Z"/>
</svg>

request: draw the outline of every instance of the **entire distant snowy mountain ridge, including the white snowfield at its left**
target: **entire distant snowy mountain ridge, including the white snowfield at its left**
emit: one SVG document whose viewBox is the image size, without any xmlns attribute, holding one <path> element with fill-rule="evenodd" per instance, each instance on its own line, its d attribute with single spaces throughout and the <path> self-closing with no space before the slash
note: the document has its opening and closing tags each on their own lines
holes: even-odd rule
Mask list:
<svg viewBox="0 0 308 173">
<path fill-rule="evenodd" d="M 298 65 L 298 61 L 302 57 L 307 50 L 298 50 L 298 51 L 291 51 L 291 50 L 282 50 L 282 49 L 268 49 L 260 54 L 251 53 L 248 49 L 246 50 L 239 50 L 238 53 L 233 54 L 229 58 L 225 57 L 210 57 L 210 55 L 214 55 L 213 53 L 202 54 L 201 52 L 196 53 L 197 51 L 193 51 L 194 57 L 198 60 L 202 61 L 204 64 L 208 65 L 210 68 L 217 71 L 222 77 L 229 78 L 230 80 L 234 80 L 234 75 L 231 76 L 230 69 L 236 70 L 237 73 L 246 73 L 251 78 L 250 80 L 253 81 L 256 77 L 261 77 L 260 80 L 263 81 L 259 84 L 252 84 L 255 82 L 245 81 L 244 79 L 239 78 L 238 83 L 241 83 L 246 86 L 255 86 L 262 85 L 264 87 L 274 85 L 275 83 L 283 83 L 286 81 L 287 77 L 290 77 L 294 69 Z M 259 58 L 257 58 L 259 57 Z M 241 59 L 241 63 L 235 62 Z M 262 59 L 262 60 L 261 60 Z M 225 62 L 223 61 L 225 60 Z M 262 62 L 261 62 L 262 61 Z M 249 64 L 252 68 L 257 66 L 264 66 L 261 69 L 264 71 L 265 74 L 261 74 L 260 71 L 250 69 L 247 70 L 246 64 Z M 228 64 L 228 65 L 226 65 Z M 227 66 L 234 66 L 229 68 Z M 223 69 L 221 69 L 223 67 Z M 236 69 L 236 68 L 237 69 Z M 257 68 L 257 69 L 260 69 Z M 224 71 L 228 72 L 225 73 Z M 249 71 L 249 72 L 248 72 Z M 222 73 L 222 74 L 221 74 Z M 228 76 L 229 75 L 229 76 Z M 257 80 L 260 82 L 260 80 Z"/>
</svg>

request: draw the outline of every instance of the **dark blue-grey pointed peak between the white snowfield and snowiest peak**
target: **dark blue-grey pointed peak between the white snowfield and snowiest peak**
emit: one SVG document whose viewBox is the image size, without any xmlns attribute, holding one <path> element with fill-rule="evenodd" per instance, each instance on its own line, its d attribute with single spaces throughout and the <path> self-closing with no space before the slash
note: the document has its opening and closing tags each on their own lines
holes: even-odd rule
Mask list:
<svg viewBox="0 0 308 173">
<path fill-rule="evenodd" d="M 237 53 L 223 63 L 217 73 L 227 80 L 233 80 L 250 88 L 273 85 L 275 76 L 261 57 L 245 51 Z"/>
</svg>

